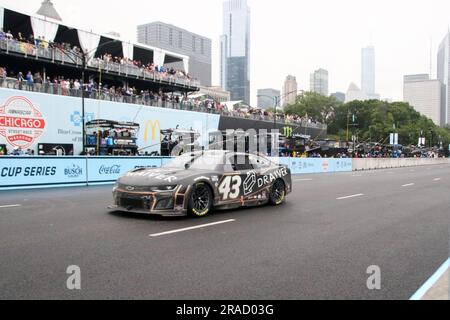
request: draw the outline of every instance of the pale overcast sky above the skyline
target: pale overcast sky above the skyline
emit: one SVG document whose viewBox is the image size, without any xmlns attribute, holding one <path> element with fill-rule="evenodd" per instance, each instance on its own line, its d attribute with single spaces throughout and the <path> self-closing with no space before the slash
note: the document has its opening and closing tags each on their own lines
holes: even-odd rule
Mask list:
<svg viewBox="0 0 450 320">
<path fill-rule="evenodd" d="M 35 12 L 42 0 L 0 0 Z M 219 83 L 222 0 L 53 0 L 63 20 L 136 40 L 136 25 L 163 21 L 213 40 L 213 82 Z M 281 89 L 288 74 L 309 89 L 309 74 L 330 72 L 330 92 L 361 83 L 361 48 L 376 48 L 377 91 L 403 98 L 403 75 L 436 76 L 439 43 L 450 24 L 449 0 L 248 0 L 252 10 L 252 104 L 258 88 Z"/>
</svg>

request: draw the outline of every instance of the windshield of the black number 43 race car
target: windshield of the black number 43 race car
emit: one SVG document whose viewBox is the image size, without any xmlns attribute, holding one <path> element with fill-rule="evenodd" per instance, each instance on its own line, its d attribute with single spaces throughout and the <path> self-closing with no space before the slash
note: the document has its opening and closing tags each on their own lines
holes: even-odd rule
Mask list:
<svg viewBox="0 0 450 320">
<path fill-rule="evenodd" d="M 201 152 L 197 153 L 189 153 L 177 157 L 165 164 L 163 168 L 168 169 L 196 169 L 196 170 L 216 170 L 217 166 L 224 164 L 224 155 L 223 153 L 205 153 Z"/>
</svg>

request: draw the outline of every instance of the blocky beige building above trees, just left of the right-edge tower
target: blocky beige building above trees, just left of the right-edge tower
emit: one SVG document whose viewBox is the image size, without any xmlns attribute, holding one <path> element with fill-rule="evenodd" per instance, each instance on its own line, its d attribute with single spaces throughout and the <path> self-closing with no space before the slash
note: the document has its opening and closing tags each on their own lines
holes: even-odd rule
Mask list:
<svg viewBox="0 0 450 320">
<path fill-rule="evenodd" d="M 408 75 L 404 77 L 403 101 L 427 116 L 436 125 L 441 125 L 442 84 L 439 80 L 430 80 L 428 74 Z"/>
</svg>

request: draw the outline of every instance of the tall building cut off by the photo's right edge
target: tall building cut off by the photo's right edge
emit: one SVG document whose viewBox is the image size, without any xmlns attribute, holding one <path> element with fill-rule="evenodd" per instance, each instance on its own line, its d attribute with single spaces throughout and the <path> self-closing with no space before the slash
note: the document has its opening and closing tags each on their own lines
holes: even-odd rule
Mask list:
<svg viewBox="0 0 450 320">
<path fill-rule="evenodd" d="M 437 64 L 438 80 L 443 84 L 441 124 L 445 126 L 450 124 L 450 31 L 439 47 Z"/>
</svg>

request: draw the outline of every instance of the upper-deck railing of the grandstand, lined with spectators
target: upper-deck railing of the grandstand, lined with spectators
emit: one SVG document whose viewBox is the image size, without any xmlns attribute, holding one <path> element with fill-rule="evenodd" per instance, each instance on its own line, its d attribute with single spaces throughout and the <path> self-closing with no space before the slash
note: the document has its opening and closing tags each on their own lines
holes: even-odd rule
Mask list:
<svg viewBox="0 0 450 320">
<path fill-rule="evenodd" d="M 36 46 L 26 42 L 16 40 L 2 39 L 0 40 L 0 49 L 6 53 L 19 53 L 27 58 L 36 60 L 45 59 L 51 62 L 73 65 L 82 67 L 83 61 L 80 54 L 72 50 L 64 50 L 60 48 L 52 48 L 50 46 Z M 189 79 L 187 76 L 180 74 L 168 74 L 157 71 L 149 71 L 145 68 L 137 67 L 131 63 L 120 64 L 116 62 L 106 62 L 99 58 L 89 59 L 87 67 L 101 70 L 104 73 L 115 73 L 123 76 L 132 76 L 141 80 L 154 81 L 159 83 L 167 83 L 171 85 L 198 88 L 200 83 L 197 80 Z"/>
</svg>

